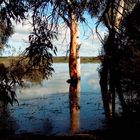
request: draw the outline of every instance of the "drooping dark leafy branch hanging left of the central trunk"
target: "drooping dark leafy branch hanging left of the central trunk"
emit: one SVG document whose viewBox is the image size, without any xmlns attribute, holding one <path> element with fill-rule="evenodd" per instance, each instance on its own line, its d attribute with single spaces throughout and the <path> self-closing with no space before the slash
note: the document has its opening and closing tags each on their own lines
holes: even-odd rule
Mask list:
<svg viewBox="0 0 140 140">
<path fill-rule="evenodd" d="M 56 54 L 56 47 L 51 40 L 56 38 L 56 33 L 48 29 L 46 22 L 39 17 L 34 21 L 34 29 L 29 36 L 30 46 L 26 48 L 24 55 L 29 58 L 29 69 L 37 67 L 44 71 L 48 78 L 53 71 L 52 51 Z"/>
</svg>

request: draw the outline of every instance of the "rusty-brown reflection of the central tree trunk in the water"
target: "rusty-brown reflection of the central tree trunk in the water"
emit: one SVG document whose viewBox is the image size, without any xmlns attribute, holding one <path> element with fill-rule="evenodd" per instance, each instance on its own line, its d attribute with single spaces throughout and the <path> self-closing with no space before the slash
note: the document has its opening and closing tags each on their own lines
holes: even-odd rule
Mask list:
<svg viewBox="0 0 140 140">
<path fill-rule="evenodd" d="M 80 80 L 70 83 L 69 87 L 69 105 L 70 105 L 70 132 L 76 133 L 79 130 L 80 113 Z"/>
</svg>

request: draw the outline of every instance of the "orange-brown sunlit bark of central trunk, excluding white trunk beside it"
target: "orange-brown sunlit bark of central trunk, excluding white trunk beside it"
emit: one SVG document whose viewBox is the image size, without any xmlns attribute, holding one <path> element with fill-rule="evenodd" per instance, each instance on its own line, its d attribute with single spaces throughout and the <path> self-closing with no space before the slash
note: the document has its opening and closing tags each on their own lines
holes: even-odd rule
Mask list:
<svg viewBox="0 0 140 140">
<path fill-rule="evenodd" d="M 76 17 L 73 12 L 70 13 L 70 35 L 69 73 L 71 80 L 76 80 L 78 79 L 76 66 L 77 31 Z"/>
</svg>

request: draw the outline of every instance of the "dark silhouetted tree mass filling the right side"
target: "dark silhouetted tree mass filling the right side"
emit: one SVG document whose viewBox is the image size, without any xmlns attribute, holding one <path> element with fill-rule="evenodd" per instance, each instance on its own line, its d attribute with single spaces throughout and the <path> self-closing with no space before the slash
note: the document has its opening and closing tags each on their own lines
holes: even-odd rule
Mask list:
<svg viewBox="0 0 140 140">
<path fill-rule="evenodd" d="M 139 23 L 136 16 L 139 12 L 137 8 L 139 2 L 124 1 L 124 6 L 121 6 L 123 12 L 118 13 L 120 18 L 116 21 L 119 3 L 121 0 L 117 1 L 117 5 L 116 1 L 108 1 L 100 19 L 109 31 L 103 43 L 100 84 L 103 98 L 106 95 L 109 97 L 108 101 L 104 102 L 104 105 L 108 107 L 107 111 L 111 101 L 112 107 L 109 112 L 112 112 L 112 116 L 115 114 L 116 93 L 123 113 L 128 113 L 130 110 L 133 112 L 135 109 L 132 104 L 139 103 L 139 82 L 134 80 L 135 75 L 138 76 L 136 71 L 139 71 L 138 64 L 136 64 L 139 62 L 139 57 L 136 55 L 136 52 L 139 52 L 137 39 Z M 130 22 L 132 19 L 133 24 Z"/>
</svg>

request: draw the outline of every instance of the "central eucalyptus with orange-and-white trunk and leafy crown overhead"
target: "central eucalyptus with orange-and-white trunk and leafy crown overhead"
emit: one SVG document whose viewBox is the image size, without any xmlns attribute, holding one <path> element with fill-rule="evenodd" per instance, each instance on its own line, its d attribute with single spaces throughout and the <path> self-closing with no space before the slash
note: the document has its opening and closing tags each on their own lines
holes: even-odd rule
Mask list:
<svg viewBox="0 0 140 140">
<path fill-rule="evenodd" d="M 78 24 L 85 22 L 84 12 L 91 11 L 96 15 L 99 11 L 99 0 L 30 0 L 30 6 L 33 10 L 33 26 L 36 30 L 40 23 L 44 23 L 41 30 L 49 30 L 57 35 L 60 22 L 64 22 L 70 29 L 70 53 L 69 53 L 69 74 L 71 80 L 80 78 L 78 74 L 79 66 L 77 52 L 78 45 Z M 90 7 L 90 8 L 89 8 Z M 38 25 L 37 25 L 38 24 Z"/>
</svg>

